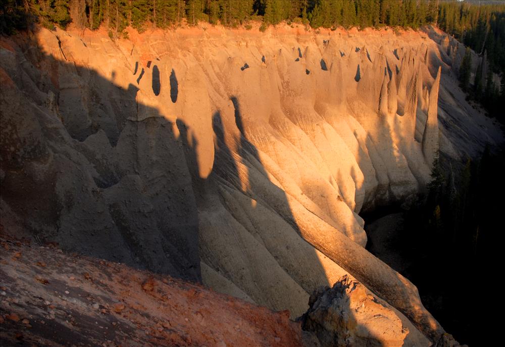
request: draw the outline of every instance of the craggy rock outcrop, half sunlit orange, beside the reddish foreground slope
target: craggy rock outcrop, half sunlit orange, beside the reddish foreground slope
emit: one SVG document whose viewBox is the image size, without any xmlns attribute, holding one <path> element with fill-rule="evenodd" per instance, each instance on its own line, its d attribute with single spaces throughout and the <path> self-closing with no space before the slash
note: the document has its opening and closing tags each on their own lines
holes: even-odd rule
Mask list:
<svg viewBox="0 0 505 347">
<path fill-rule="evenodd" d="M 301 318 L 302 328 L 328 347 L 429 346 L 430 341 L 385 301 L 349 276 L 319 288 Z"/>
</svg>

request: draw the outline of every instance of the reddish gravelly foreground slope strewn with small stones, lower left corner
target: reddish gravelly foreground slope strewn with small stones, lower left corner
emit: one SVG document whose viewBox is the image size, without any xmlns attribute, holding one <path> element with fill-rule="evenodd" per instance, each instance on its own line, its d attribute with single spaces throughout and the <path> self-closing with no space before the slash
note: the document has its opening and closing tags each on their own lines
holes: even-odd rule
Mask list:
<svg viewBox="0 0 505 347">
<path fill-rule="evenodd" d="M 288 312 L 52 247 L 1 245 L 2 345 L 302 345 Z"/>
</svg>

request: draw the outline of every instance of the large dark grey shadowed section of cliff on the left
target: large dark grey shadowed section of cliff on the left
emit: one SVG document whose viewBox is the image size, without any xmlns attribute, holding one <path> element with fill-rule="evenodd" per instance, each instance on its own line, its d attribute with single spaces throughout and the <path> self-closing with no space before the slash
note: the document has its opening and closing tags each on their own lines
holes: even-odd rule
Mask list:
<svg viewBox="0 0 505 347">
<path fill-rule="evenodd" d="M 68 61 L 59 33 L 51 32 L 61 57 L 47 54 L 34 32 L 2 37 L 2 108 L 12 111 L 2 112 L 3 228 L 201 281 L 197 142 L 187 141 L 184 122 L 137 103 L 137 76 L 124 88 L 115 71 L 108 79 Z M 158 83 L 159 71 L 153 77 Z M 161 97 L 164 88 L 145 92 Z"/>
</svg>

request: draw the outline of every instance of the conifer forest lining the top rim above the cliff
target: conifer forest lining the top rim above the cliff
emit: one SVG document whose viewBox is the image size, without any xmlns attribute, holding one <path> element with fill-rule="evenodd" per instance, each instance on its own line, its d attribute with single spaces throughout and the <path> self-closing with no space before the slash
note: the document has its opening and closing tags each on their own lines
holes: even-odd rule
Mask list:
<svg viewBox="0 0 505 347">
<path fill-rule="evenodd" d="M 125 28 L 139 32 L 147 28 L 168 28 L 199 21 L 229 27 L 252 26 L 260 30 L 282 21 L 313 28 L 401 27 L 417 29 L 431 24 L 454 35 L 480 55 L 487 53 L 488 73 L 476 76 L 486 85 L 469 80 L 471 64 L 463 66 L 461 79 L 469 96 L 482 103 L 492 116 L 499 116 L 503 105 L 505 71 L 505 3 L 493 1 L 444 0 L 2 0 L 0 32 L 13 33 L 38 21 L 45 27 L 97 29 L 105 26 L 112 38 L 127 37 Z M 476 67 L 473 67 L 474 70 Z M 477 69 L 477 75 L 479 69 Z M 489 77 L 489 78 L 488 78 Z M 473 84 L 472 88 L 467 88 Z"/>
</svg>

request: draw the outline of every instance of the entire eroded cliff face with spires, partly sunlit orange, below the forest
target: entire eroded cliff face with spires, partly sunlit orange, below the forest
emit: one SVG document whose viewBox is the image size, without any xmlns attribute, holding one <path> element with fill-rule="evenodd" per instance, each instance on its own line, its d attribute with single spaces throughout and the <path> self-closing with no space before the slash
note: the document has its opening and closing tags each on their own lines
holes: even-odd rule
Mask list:
<svg viewBox="0 0 505 347">
<path fill-rule="evenodd" d="M 2 39 L 10 232 L 292 317 L 351 275 L 438 339 L 416 287 L 364 249 L 358 213 L 414 199 L 439 146 L 462 156 L 501 140 L 451 87 L 440 33 L 129 36 Z"/>
</svg>

